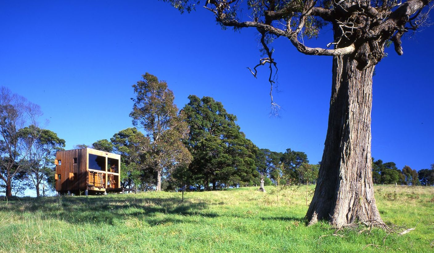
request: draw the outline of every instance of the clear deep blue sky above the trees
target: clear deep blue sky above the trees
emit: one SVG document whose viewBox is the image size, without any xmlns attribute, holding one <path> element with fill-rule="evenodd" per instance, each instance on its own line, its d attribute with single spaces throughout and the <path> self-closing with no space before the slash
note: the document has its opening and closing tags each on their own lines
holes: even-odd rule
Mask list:
<svg viewBox="0 0 434 253">
<path fill-rule="evenodd" d="M 324 46 L 332 31 L 308 45 Z M 166 80 L 182 108 L 190 94 L 211 96 L 237 115 L 258 147 L 292 148 L 321 160 L 331 92 L 332 58 L 304 56 L 285 39 L 274 43 L 279 118 L 270 118 L 267 69 L 254 29 L 221 30 L 207 10 L 181 15 L 156 0 L 1 1 L 0 85 L 39 104 L 47 128 L 66 148 L 110 139 L 132 126 L 132 87 L 150 72 Z M 434 27 L 392 48 L 377 66 L 372 155 L 398 168 L 434 163 Z"/>
</svg>

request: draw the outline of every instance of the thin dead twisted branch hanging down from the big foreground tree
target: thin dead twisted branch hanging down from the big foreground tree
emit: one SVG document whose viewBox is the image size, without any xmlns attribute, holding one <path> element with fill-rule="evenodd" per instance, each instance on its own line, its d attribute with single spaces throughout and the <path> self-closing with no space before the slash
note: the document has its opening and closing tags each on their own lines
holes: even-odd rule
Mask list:
<svg viewBox="0 0 434 253">
<path fill-rule="evenodd" d="M 273 49 L 270 49 L 270 47 L 267 45 L 266 42 L 266 32 L 265 31 L 261 31 L 261 39 L 260 42 L 263 46 L 263 51 L 265 52 L 265 54 L 268 56 L 266 58 L 262 58 L 259 60 L 259 63 L 256 64 L 256 66 L 253 67 L 253 70 L 250 69 L 249 67 L 247 67 L 247 69 L 250 70 L 250 73 L 252 73 L 252 75 L 256 78 L 256 74 L 258 73 L 258 70 L 256 69 L 259 66 L 264 66 L 265 64 L 269 64 L 269 69 L 270 69 L 270 75 L 268 76 L 268 82 L 270 82 L 270 99 L 271 99 L 271 112 L 270 114 L 273 116 L 278 115 L 278 112 L 280 110 L 280 106 L 274 102 L 273 100 L 273 85 L 276 83 L 276 76 L 277 76 L 277 62 L 274 61 L 273 59 Z M 273 74 L 273 68 L 276 69 L 276 71 Z M 254 71 L 254 72 L 253 72 Z"/>
</svg>

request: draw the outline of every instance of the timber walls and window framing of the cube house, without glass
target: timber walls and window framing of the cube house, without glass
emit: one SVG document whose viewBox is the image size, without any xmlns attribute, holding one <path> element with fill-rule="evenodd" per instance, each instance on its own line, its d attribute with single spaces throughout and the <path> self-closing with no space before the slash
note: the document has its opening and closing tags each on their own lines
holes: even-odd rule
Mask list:
<svg viewBox="0 0 434 253">
<path fill-rule="evenodd" d="M 89 169 L 89 154 L 95 154 L 105 158 L 104 168 L 101 171 Z M 118 160 L 117 173 L 108 171 L 108 158 Z M 76 161 L 76 163 L 74 163 L 74 161 Z M 80 193 L 85 190 L 104 192 L 106 187 L 120 188 L 120 161 L 121 156 L 118 154 L 95 150 L 92 148 L 58 151 L 56 153 L 56 164 L 58 164 L 56 165 L 56 174 L 60 175 L 60 177 L 57 177 L 56 180 L 56 191 L 62 194 L 68 191 Z M 104 185 L 99 184 L 99 187 L 89 185 L 89 171 L 102 173 Z M 109 183 L 108 186 L 107 183 Z"/>
</svg>

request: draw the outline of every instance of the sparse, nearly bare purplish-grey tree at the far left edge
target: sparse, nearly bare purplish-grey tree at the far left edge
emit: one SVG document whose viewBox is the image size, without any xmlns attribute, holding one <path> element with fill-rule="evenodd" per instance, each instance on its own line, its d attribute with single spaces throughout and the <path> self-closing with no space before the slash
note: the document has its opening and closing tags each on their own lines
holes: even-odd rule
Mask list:
<svg viewBox="0 0 434 253">
<path fill-rule="evenodd" d="M 36 124 L 40 115 L 39 105 L 5 87 L 0 88 L 0 180 L 4 182 L 7 197 L 12 196 L 14 179 L 30 165 L 30 146 L 26 143 L 33 140 L 20 138 L 19 130 L 26 122 Z"/>
</svg>

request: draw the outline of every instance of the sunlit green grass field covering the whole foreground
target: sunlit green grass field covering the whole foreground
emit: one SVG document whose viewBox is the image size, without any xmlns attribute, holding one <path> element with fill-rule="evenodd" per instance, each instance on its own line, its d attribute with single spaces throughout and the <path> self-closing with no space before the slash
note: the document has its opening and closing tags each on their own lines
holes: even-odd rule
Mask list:
<svg viewBox="0 0 434 253">
<path fill-rule="evenodd" d="M 416 228 L 387 237 L 307 227 L 303 187 L 279 192 L 279 202 L 274 187 L 256 189 L 187 193 L 184 202 L 167 192 L 1 200 L 0 252 L 434 251 L 434 187 L 375 186 L 381 217 Z"/>
</svg>

